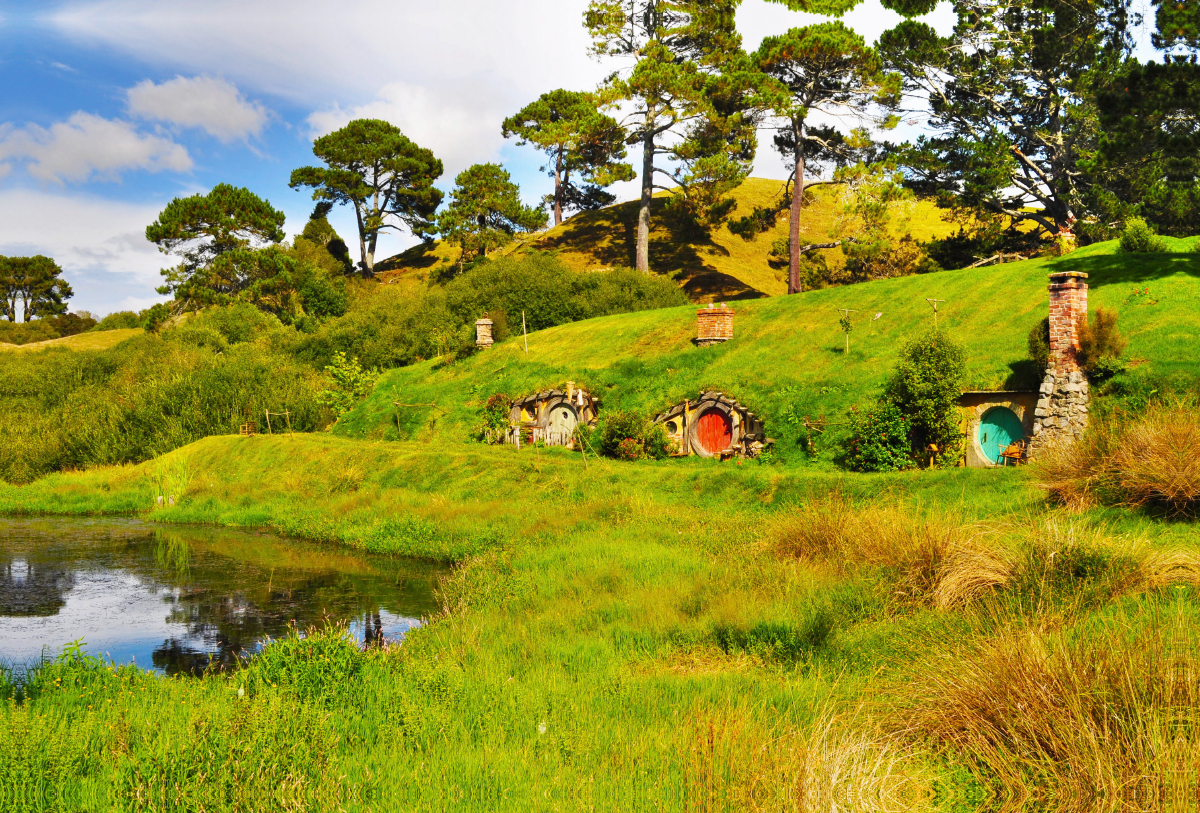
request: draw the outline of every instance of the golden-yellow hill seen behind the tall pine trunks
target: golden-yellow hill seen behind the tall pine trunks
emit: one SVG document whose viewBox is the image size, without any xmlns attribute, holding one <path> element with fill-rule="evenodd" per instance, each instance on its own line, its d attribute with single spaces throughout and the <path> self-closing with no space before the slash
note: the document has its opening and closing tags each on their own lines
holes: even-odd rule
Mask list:
<svg viewBox="0 0 1200 813">
<path fill-rule="evenodd" d="M 756 206 L 767 207 L 782 194 L 781 181 L 751 177 L 734 193 L 738 207 L 734 217 L 749 215 Z M 685 234 L 671 228 L 662 217 L 666 193 L 653 206 L 650 264 L 656 273 L 671 275 L 694 301 L 758 299 L 787 293 L 786 269 L 773 266 L 772 243 L 787 236 L 787 216 L 756 240 L 746 241 L 722 225 L 712 236 Z M 804 212 L 800 234 L 805 242 L 826 242 L 838 212 L 836 186 L 814 187 L 811 203 Z M 634 234 L 637 204 L 623 203 L 593 212 L 581 212 L 528 240 L 518 241 L 506 252 L 554 252 L 566 265 L 581 271 L 634 265 Z M 917 240 L 944 236 L 954 229 L 942 218 L 932 201 L 917 201 L 906 219 L 894 223 L 898 236 L 911 233 Z M 397 282 L 424 276 L 439 265 L 454 263 L 458 249 L 440 242 L 416 246 L 379 263 L 380 277 Z M 832 269 L 845 264 L 840 248 L 822 249 Z"/>
</svg>

